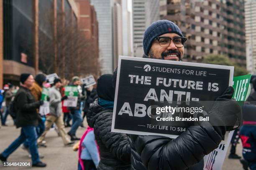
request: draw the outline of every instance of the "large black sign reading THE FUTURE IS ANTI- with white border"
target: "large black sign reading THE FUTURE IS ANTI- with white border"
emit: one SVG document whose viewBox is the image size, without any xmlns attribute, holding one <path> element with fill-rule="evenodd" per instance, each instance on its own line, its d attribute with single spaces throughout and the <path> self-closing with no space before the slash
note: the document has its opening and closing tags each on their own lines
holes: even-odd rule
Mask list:
<svg viewBox="0 0 256 170">
<path fill-rule="evenodd" d="M 173 102 L 179 107 L 182 101 L 188 105 L 194 101 L 215 101 L 233 84 L 233 68 L 119 57 L 111 131 L 177 138 L 186 127 L 154 124 L 156 112 L 152 110 L 166 102 Z"/>
</svg>

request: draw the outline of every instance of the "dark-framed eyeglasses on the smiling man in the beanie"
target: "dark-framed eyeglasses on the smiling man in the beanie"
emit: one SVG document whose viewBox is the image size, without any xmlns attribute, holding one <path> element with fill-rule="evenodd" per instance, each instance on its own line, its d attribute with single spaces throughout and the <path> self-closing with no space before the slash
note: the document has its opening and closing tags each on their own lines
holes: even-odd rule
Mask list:
<svg viewBox="0 0 256 170">
<path fill-rule="evenodd" d="M 169 47 L 171 41 L 173 40 L 176 47 L 183 47 L 184 43 L 186 42 L 186 37 L 156 37 L 155 40 L 158 40 L 159 45 L 161 47 Z"/>
</svg>

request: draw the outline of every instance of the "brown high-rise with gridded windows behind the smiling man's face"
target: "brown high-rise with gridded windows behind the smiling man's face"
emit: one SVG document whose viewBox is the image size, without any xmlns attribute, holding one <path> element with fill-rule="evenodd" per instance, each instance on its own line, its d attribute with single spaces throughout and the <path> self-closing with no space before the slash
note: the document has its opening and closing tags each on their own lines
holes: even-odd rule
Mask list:
<svg viewBox="0 0 256 170">
<path fill-rule="evenodd" d="M 243 0 L 161 0 L 161 19 L 171 20 L 188 38 L 184 57 L 227 55 L 245 65 Z"/>
</svg>

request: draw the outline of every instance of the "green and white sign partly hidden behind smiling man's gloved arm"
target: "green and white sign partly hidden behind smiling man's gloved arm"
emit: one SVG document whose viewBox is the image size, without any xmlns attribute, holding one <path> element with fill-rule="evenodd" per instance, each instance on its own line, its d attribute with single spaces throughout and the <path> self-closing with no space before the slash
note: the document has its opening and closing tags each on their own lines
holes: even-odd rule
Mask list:
<svg viewBox="0 0 256 170">
<path fill-rule="evenodd" d="M 236 101 L 244 101 L 246 98 L 246 93 L 248 90 L 248 86 L 250 84 L 251 75 L 242 75 L 233 78 L 233 88 L 235 90 L 233 98 Z M 243 102 L 238 102 L 242 103 Z M 243 107 L 241 104 L 241 107 Z M 244 114 L 244 113 L 243 113 Z M 225 156 L 228 151 L 228 146 L 230 144 L 232 135 L 234 131 L 231 131 L 228 135 L 228 140 L 225 143 L 222 141 L 219 147 L 213 150 L 210 154 L 205 155 L 204 157 L 204 170 L 221 170 L 222 165 L 225 160 Z"/>
</svg>

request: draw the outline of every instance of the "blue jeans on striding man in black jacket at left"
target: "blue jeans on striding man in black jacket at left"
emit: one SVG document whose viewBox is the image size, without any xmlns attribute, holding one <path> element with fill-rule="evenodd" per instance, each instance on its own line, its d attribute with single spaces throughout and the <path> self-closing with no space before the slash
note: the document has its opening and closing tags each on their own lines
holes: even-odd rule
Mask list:
<svg viewBox="0 0 256 170">
<path fill-rule="evenodd" d="M 40 162 L 38 149 L 37 149 L 37 135 L 36 128 L 34 126 L 24 126 L 21 128 L 20 136 L 6 148 L 2 155 L 5 158 L 13 153 L 25 140 L 28 139 L 28 146 L 31 153 L 32 164 Z"/>
</svg>

